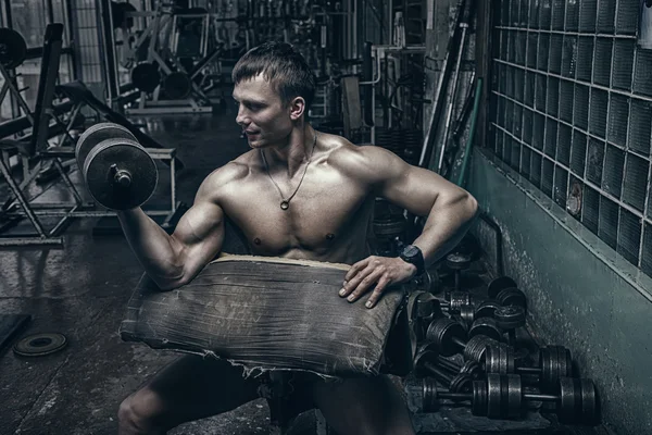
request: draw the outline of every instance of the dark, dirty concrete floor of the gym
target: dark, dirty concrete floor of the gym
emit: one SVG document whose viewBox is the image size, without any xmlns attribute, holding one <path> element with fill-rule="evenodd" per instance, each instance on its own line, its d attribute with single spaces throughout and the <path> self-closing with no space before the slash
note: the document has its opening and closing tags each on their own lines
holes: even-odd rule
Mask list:
<svg viewBox="0 0 652 435">
<path fill-rule="evenodd" d="M 177 149 L 186 165 L 177 175 L 177 195 L 191 203 L 205 175 L 248 149 L 234 119 L 234 114 L 217 114 L 135 121 L 143 122 L 161 144 Z M 78 181 L 78 172 L 72 177 Z M 161 166 L 158 195 L 168 187 L 165 166 Z M 52 188 L 42 198 L 58 191 L 61 189 Z M 5 197 L 5 186 L 0 185 L 0 198 Z M 96 219 L 77 220 L 64 233 L 63 250 L 0 251 L 0 314 L 33 316 L 21 336 L 59 332 L 70 341 L 65 350 L 42 358 L 18 358 L 7 349 L 0 355 L 0 434 L 113 434 L 122 399 L 177 358 L 173 352 L 120 339 L 117 328 L 142 269 L 122 236 L 93 236 L 96 223 Z M 227 234 L 224 250 L 243 252 L 233 231 Z M 267 406 L 261 399 L 223 415 L 185 424 L 172 433 L 265 434 L 267 415 Z M 468 413 L 456 415 L 417 418 L 417 426 L 421 433 L 430 433 L 432 427 L 453 433 L 479 428 L 471 427 L 473 418 Z M 304 417 L 308 426 L 310 418 Z M 566 433 L 539 419 L 529 426 L 482 430 Z"/>
</svg>

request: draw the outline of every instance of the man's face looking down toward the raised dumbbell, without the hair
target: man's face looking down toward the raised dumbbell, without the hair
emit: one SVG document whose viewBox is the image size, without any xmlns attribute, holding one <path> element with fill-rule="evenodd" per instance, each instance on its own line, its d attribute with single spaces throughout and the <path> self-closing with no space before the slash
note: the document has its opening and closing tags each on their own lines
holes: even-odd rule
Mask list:
<svg viewBox="0 0 652 435">
<path fill-rule="evenodd" d="M 244 130 L 251 148 L 285 142 L 292 129 L 290 109 L 262 75 L 238 83 L 234 99 L 238 104 L 236 122 Z"/>
</svg>

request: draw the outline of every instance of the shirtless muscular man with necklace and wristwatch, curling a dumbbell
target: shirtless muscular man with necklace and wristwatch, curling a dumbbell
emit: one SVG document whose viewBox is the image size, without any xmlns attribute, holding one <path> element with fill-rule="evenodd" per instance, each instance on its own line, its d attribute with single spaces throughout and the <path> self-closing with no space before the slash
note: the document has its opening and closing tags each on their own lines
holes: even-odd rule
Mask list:
<svg viewBox="0 0 652 435">
<path fill-rule="evenodd" d="M 354 301 L 366 294 L 368 308 L 389 285 L 414 276 L 418 265 L 369 256 L 366 235 L 376 197 L 428 216 L 414 241 L 426 264 L 462 238 L 477 210 L 465 190 L 383 148 L 354 146 L 310 125 L 305 115 L 315 78 L 291 46 L 252 49 L 233 78 L 236 122 L 251 150 L 204 179 L 172 236 L 140 209 L 120 213 L 133 250 L 161 289 L 190 282 L 215 258 L 225 216 L 253 254 L 352 264 L 339 295 Z M 181 357 L 123 401 L 120 433 L 164 433 L 258 398 L 258 382 L 241 374 L 225 361 Z M 414 433 L 399 391 L 385 376 L 304 387 L 341 435 Z"/>
</svg>

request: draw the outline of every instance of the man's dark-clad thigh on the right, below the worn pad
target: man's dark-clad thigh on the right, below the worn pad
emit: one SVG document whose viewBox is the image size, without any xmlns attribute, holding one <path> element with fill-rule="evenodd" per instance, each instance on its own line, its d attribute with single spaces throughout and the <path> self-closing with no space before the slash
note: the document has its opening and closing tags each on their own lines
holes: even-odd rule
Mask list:
<svg viewBox="0 0 652 435">
<path fill-rule="evenodd" d="M 317 382 L 314 402 L 340 435 L 412 435 L 405 401 L 387 376 Z"/>
</svg>

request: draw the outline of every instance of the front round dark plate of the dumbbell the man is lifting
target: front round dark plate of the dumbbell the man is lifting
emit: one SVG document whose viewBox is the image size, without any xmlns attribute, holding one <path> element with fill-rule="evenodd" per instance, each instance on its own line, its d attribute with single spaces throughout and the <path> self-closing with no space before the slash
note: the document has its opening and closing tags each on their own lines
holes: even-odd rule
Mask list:
<svg viewBox="0 0 652 435">
<path fill-rule="evenodd" d="M 114 165 L 126 171 L 131 183 L 127 187 L 114 182 Z M 138 142 L 108 139 L 95 147 L 84 164 L 84 178 L 98 203 L 112 210 L 128 210 L 143 204 L 154 192 L 159 172 L 153 159 Z"/>
</svg>

